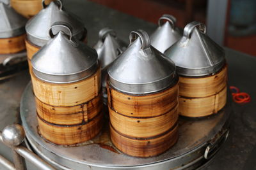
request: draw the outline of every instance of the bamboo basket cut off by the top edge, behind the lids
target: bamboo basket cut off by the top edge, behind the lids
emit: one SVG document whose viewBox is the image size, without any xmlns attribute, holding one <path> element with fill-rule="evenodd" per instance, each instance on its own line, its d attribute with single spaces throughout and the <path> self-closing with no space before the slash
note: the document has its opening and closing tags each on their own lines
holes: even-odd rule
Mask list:
<svg viewBox="0 0 256 170">
<path fill-rule="evenodd" d="M 42 10 L 41 0 L 10 0 L 12 8 L 20 15 L 31 18 Z M 45 4 L 51 3 L 52 0 L 46 0 Z"/>
</svg>

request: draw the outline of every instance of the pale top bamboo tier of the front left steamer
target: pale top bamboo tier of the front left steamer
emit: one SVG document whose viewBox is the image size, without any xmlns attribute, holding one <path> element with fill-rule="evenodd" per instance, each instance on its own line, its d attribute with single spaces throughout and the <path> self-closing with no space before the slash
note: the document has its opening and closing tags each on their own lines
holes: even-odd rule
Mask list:
<svg viewBox="0 0 256 170">
<path fill-rule="evenodd" d="M 56 84 L 39 80 L 31 74 L 37 99 L 52 106 L 76 106 L 86 103 L 100 93 L 100 67 L 92 76 L 74 83 Z"/>
</svg>

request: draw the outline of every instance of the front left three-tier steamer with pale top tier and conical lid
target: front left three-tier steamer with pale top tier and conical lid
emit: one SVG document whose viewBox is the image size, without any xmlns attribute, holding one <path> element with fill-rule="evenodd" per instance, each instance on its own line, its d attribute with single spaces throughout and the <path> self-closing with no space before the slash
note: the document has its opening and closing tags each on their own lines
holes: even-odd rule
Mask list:
<svg viewBox="0 0 256 170">
<path fill-rule="evenodd" d="M 52 25 L 52 39 L 31 60 L 39 131 L 57 145 L 88 141 L 102 128 L 97 52 L 71 30 L 65 23 Z"/>
</svg>

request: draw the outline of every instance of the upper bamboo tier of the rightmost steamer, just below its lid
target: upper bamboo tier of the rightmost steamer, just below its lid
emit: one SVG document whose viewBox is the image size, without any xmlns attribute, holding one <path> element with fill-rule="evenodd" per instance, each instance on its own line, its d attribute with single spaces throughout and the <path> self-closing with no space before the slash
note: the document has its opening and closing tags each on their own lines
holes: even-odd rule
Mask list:
<svg viewBox="0 0 256 170">
<path fill-rule="evenodd" d="M 180 76 L 180 96 L 207 97 L 218 94 L 227 84 L 227 65 L 218 73 L 203 78 Z"/>
</svg>

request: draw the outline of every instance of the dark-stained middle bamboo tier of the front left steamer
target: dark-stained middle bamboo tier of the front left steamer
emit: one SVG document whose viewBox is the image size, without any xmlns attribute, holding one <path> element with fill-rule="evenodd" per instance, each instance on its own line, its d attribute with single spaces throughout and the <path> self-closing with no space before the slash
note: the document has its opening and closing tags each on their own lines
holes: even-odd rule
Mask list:
<svg viewBox="0 0 256 170">
<path fill-rule="evenodd" d="M 82 124 L 92 120 L 102 110 L 101 94 L 91 101 L 76 106 L 51 106 L 36 97 L 36 111 L 45 121 L 58 125 Z"/>
</svg>

